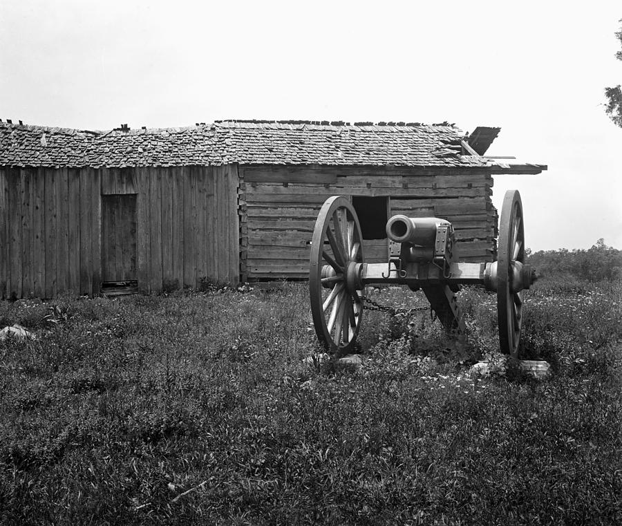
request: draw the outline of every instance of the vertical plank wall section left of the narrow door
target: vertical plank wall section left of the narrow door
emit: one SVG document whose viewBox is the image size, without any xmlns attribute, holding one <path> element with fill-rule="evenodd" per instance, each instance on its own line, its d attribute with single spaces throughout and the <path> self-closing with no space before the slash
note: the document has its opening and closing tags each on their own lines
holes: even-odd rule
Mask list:
<svg viewBox="0 0 622 526">
<path fill-rule="evenodd" d="M 0 168 L 0 297 L 100 292 L 100 173 Z"/>
</svg>

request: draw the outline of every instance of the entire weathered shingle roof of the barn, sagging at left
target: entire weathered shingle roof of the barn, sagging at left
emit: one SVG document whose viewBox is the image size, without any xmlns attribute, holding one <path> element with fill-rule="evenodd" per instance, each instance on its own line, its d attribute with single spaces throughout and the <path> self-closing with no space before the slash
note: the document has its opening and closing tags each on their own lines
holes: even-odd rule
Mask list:
<svg viewBox="0 0 622 526">
<path fill-rule="evenodd" d="M 104 132 L 0 122 L 0 165 L 487 165 L 487 160 L 461 155 L 463 138 L 462 131 L 446 123 L 217 121 Z"/>
</svg>

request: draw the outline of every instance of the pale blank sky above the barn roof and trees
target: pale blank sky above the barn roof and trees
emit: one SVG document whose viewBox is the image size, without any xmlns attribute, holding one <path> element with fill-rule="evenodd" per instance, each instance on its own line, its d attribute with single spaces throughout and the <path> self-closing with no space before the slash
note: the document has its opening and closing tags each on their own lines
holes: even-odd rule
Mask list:
<svg viewBox="0 0 622 526">
<path fill-rule="evenodd" d="M 511 7 L 506 7 L 511 6 Z M 218 119 L 500 126 L 533 250 L 622 249 L 622 3 L 2 0 L 0 118 L 78 129 Z"/>
</svg>

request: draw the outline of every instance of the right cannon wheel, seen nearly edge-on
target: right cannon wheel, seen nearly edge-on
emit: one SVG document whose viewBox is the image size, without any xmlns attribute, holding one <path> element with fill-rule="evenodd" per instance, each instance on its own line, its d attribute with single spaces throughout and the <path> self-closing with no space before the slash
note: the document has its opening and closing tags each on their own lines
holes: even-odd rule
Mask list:
<svg viewBox="0 0 622 526">
<path fill-rule="evenodd" d="M 522 325 L 522 290 L 514 292 L 513 263 L 525 263 L 525 233 L 522 202 L 518 190 L 508 190 L 503 198 L 499 225 L 497 259 L 497 314 L 499 344 L 503 353 L 516 358 Z"/>
</svg>

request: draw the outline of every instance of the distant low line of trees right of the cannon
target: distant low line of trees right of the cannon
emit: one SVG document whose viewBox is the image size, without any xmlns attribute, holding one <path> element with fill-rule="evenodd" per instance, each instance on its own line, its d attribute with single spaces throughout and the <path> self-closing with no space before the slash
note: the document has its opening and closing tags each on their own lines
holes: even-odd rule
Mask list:
<svg viewBox="0 0 622 526">
<path fill-rule="evenodd" d="M 527 250 L 527 254 L 528 262 L 543 278 L 592 282 L 622 280 L 622 250 L 607 247 L 603 238 L 587 250 Z"/>
</svg>

